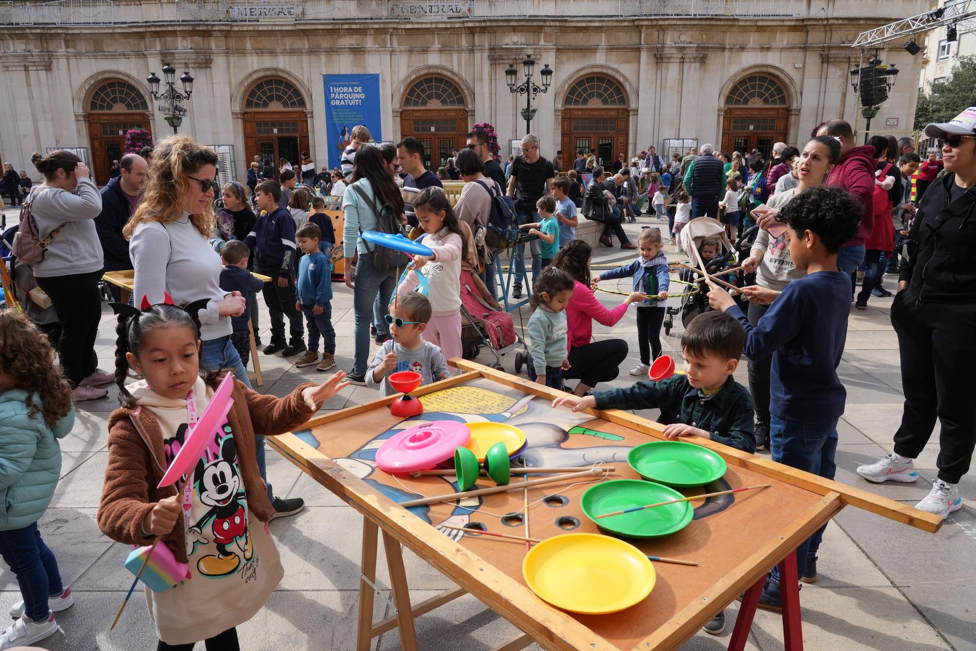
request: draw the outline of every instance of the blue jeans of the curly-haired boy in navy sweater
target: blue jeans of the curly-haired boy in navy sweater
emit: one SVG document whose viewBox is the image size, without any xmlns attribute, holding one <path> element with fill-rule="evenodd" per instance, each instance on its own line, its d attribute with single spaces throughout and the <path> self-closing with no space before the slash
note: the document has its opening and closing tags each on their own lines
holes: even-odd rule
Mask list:
<svg viewBox="0 0 976 651">
<path fill-rule="evenodd" d="M 773 460 L 793 468 L 806 470 L 824 479 L 834 479 L 837 469 L 837 419 L 825 422 L 784 420 L 773 414 L 769 420 L 769 450 Z M 796 571 L 803 576 L 808 556 L 816 556 L 824 540 L 823 527 L 796 547 Z M 773 568 L 774 578 L 778 569 Z"/>
</svg>

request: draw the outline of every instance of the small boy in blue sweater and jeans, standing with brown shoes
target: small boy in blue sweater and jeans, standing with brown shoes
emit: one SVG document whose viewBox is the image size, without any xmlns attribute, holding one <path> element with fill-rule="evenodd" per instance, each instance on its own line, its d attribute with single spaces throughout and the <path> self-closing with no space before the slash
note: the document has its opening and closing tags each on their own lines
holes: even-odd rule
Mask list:
<svg viewBox="0 0 976 651">
<path fill-rule="evenodd" d="M 336 366 L 336 330 L 332 327 L 332 265 L 318 250 L 322 230 L 305 222 L 298 231 L 299 247 L 305 255 L 299 260 L 299 292 L 295 307 L 305 314 L 308 324 L 308 352 L 295 363 L 310 367 L 318 360 L 318 335 L 322 335 L 322 361 L 315 370 Z"/>
</svg>

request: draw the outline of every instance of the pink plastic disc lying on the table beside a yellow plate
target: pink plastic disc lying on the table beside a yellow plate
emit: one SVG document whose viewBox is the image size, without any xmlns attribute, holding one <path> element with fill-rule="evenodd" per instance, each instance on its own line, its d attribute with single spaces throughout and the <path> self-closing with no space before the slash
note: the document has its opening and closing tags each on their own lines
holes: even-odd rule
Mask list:
<svg viewBox="0 0 976 651">
<path fill-rule="evenodd" d="M 454 456 L 471 433 L 462 422 L 434 420 L 394 434 L 376 451 L 376 464 L 390 474 L 427 470 Z"/>
</svg>

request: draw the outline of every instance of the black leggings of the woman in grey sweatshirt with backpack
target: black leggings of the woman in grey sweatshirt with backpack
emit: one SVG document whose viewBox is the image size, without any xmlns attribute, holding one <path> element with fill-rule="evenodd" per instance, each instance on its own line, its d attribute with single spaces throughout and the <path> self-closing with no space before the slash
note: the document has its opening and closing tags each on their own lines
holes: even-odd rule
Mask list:
<svg viewBox="0 0 976 651">
<path fill-rule="evenodd" d="M 102 319 L 102 270 L 90 274 L 38 277 L 37 284 L 54 304 L 61 322 L 58 354 L 61 369 L 72 387 L 95 372 L 95 339 Z"/>
</svg>

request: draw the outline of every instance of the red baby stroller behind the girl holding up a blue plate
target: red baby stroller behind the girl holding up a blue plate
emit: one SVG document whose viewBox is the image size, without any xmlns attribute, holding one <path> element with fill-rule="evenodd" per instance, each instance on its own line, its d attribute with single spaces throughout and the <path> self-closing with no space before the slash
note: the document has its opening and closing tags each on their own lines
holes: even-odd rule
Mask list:
<svg viewBox="0 0 976 651">
<path fill-rule="evenodd" d="M 481 279 L 461 271 L 461 345 L 466 360 L 473 359 L 485 346 L 495 356 L 492 369 L 504 370 L 502 356 L 521 348 L 515 356 L 515 372 L 520 361 L 528 360 L 528 347 L 515 332 L 511 315 L 501 309 Z M 524 357 L 523 357 L 524 355 Z"/>
</svg>

